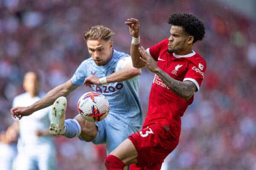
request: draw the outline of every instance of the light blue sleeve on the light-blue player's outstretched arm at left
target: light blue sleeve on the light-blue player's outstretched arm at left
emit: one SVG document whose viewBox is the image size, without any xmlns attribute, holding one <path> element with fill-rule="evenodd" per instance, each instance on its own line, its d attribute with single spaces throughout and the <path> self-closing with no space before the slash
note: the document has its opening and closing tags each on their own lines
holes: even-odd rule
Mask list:
<svg viewBox="0 0 256 170">
<path fill-rule="evenodd" d="M 84 60 L 79 67 L 76 69 L 75 74 L 71 77 L 71 82 L 73 85 L 82 85 L 84 79 L 87 77 L 87 64 L 86 60 Z"/>
</svg>

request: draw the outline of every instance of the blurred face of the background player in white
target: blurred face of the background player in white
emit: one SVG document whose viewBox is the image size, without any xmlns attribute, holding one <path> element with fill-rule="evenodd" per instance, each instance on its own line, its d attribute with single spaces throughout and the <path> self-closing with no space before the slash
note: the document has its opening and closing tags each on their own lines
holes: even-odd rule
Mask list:
<svg viewBox="0 0 256 170">
<path fill-rule="evenodd" d="M 37 96 L 40 89 L 40 82 L 38 81 L 37 75 L 33 72 L 28 72 L 23 80 L 23 88 L 31 96 Z"/>
</svg>

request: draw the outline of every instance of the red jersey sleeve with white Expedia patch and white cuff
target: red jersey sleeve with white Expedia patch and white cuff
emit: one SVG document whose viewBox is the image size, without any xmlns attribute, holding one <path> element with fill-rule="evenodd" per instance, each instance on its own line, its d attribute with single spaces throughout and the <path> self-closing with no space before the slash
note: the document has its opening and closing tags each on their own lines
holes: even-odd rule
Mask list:
<svg viewBox="0 0 256 170">
<path fill-rule="evenodd" d="M 198 54 L 199 55 L 199 54 Z M 190 60 L 188 71 L 183 81 L 189 80 L 195 83 L 197 91 L 204 79 L 204 72 L 206 70 L 206 62 L 201 56 L 196 56 L 195 59 Z"/>
</svg>

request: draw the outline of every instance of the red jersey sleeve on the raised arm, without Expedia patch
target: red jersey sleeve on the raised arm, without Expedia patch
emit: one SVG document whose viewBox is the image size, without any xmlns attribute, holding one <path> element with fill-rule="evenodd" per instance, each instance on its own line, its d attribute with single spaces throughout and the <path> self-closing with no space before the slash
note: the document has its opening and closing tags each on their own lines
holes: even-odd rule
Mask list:
<svg viewBox="0 0 256 170">
<path fill-rule="evenodd" d="M 166 49 L 165 49 L 166 48 Z M 168 49 L 168 39 L 158 42 L 156 45 L 147 49 L 147 52 L 153 57 L 154 60 L 158 60 L 160 52 Z"/>
</svg>

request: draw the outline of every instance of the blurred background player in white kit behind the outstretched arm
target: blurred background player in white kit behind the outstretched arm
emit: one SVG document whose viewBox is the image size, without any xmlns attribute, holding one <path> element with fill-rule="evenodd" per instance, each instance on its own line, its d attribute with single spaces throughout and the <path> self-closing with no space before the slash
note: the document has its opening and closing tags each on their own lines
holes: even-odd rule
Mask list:
<svg viewBox="0 0 256 170">
<path fill-rule="evenodd" d="M 40 79 L 37 73 L 28 72 L 24 76 L 23 88 L 26 93 L 13 99 L 13 107 L 29 106 L 41 99 Z M 17 157 L 14 170 L 56 170 L 55 146 L 48 131 L 51 107 L 38 110 L 32 116 L 15 120 L 6 133 L 19 133 Z"/>
</svg>

